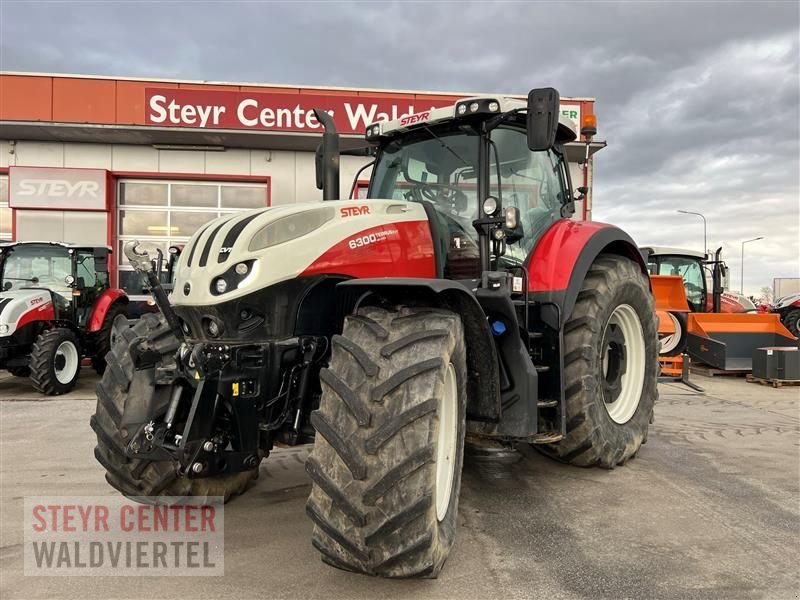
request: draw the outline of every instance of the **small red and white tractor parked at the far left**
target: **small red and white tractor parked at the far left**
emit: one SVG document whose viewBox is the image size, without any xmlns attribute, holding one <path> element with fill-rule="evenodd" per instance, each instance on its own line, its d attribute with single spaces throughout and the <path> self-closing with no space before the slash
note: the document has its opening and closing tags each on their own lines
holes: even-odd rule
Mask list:
<svg viewBox="0 0 800 600">
<path fill-rule="evenodd" d="M 105 370 L 128 298 L 109 287 L 108 247 L 0 244 L 0 369 L 47 395 L 69 392 L 89 357 Z"/>
</svg>

